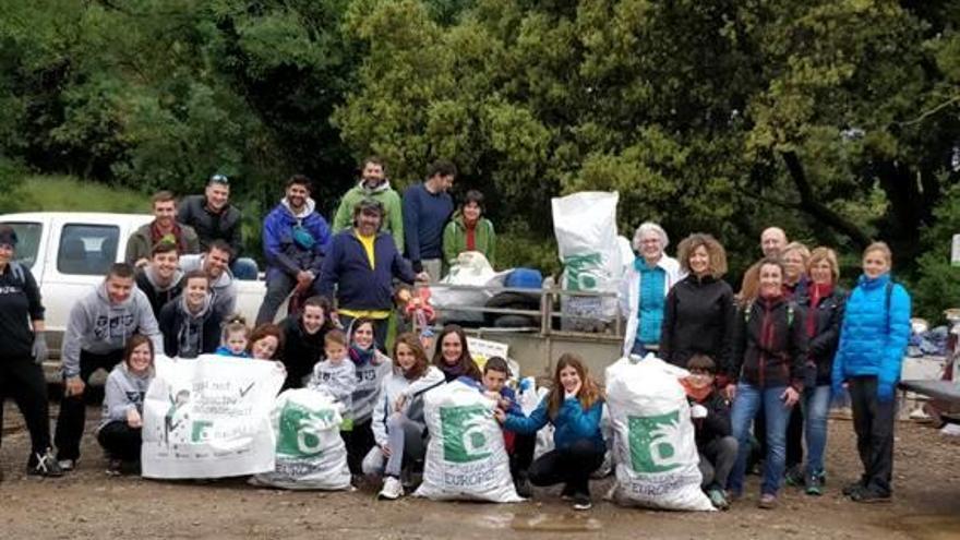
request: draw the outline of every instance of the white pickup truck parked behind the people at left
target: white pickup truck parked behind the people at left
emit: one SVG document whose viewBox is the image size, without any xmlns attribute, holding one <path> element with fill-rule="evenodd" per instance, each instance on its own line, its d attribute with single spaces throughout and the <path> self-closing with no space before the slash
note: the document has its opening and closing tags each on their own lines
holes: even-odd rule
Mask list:
<svg viewBox="0 0 960 540">
<path fill-rule="evenodd" d="M 73 304 L 122 262 L 127 239 L 153 220 L 144 214 L 32 212 L 0 215 L 16 230 L 16 260 L 31 268 L 40 286 L 48 344 L 53 357 Z M 237 310 L 253 324 L 266 291 L 262 280 L 237 280 Z M 280 313 L 285 313 L 281 307 Z"/>
</svg>

